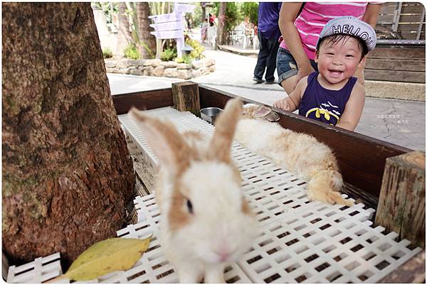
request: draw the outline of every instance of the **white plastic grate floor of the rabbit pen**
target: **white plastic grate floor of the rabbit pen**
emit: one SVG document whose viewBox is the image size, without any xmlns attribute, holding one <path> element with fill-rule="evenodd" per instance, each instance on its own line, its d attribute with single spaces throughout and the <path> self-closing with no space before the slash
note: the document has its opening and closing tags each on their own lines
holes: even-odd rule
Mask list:
<svg viewBox="0 0 427 285">
<path fill-rule="evenodd" d="M 211 124 L 189 112 L 178 112 L 171 107 L 146 112 L 171 120 L 179 131 L 196 129 L 206 135 L 214 132 Z M 156 165 L 157 158 L 127 114 L 120 115 L 119 119 L 127 135 L 141 146 L 153 166 Z M 394 232 L 384 235 L 381 233 L 384 228 L 371 227 L 369 219 L 374 210 L 364 209 L 363 204 L 348 207 L 310 202 L 305 181 L 292 173 L 236 142 L 232 155 L 243 176 L 243 194 L 260 222 L 261 234 L 236 264 L 226 268 L 228 283 L 375 283 L 421 251 L 419 247 L 408 249 L 407 240 L 396 242 Z M 79 283 L 178 281 L 159 244 L 160 213 L 154 195 L 138 196 L 134 203 L 138 223 L 118 231 L 117 236 L 153 235 L 147 252 L 132 269 Z M 41 266 L 10 267 L 7 281 L 40 283 L 61 273 L 59 260 L 43 263 L 46 262 Z M 55 270 L 47 269 L 53 264 Z"/>
</svg>

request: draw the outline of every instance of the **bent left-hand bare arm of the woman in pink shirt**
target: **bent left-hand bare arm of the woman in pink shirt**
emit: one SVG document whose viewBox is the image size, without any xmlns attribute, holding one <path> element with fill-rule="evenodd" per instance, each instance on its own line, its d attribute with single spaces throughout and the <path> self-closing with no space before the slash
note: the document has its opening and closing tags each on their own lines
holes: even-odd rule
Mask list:
<svg viewBox="0 0 427 285">
<path fill-rule="evenodd" d="M 283 41 L 288 45 L 290 53 L 297 62 L 298 73 L 295 85 L 302 77 L 314 71 L 310 64 L 310 60 L 305 54 L 304 48 L 302 48 L 300 33 L 298 33 L 294 24 L 301 6 L 302 2 L 285 2 L 282 4 L 279 14 L 280 33 L 282 33 Z"/>
</svg>

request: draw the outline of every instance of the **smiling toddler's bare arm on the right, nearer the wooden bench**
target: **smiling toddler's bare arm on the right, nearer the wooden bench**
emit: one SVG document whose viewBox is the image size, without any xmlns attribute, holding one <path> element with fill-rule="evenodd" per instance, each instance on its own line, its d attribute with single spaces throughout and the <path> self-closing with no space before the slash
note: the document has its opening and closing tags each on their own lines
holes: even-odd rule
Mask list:
<svg viewBox="0 0 427 285">
<path fill-rule="evenodd" d="M 337 127 L 353 131 L 362 116 L 363 107 L 364 86 L 356 83 L 347 104 L 345 104 L 344 112 L 342 113 L 341 119 L 339 119 Z"/>
</svg>

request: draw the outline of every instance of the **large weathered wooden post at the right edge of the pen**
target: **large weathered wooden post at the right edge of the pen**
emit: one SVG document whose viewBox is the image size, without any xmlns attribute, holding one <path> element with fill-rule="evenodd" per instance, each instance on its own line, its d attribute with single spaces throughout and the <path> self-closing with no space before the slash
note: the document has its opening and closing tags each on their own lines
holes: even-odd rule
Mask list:
<svg viewBox="0 0 427 285">
<path fill-rule="evenodd" d="M 386 159 L 375 225 L 425 248 L 426 153 L 413 151 Z"/>
</svg>

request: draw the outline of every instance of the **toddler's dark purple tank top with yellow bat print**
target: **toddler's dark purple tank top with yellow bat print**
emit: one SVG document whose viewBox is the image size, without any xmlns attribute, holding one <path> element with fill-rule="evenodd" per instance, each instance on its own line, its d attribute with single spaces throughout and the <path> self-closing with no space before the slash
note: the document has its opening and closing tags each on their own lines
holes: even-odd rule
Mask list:
<svg viewBox="0 0 427 285">
<path fill-rule="evenodd" d="M 315 71 L 308 75 L 307 88 L 298 109 L 299 114 L 334 126 L 344 112 L 357 78 L 350 77 L 341 90 L 327 90 L 317 81 L 318 74 L 319 72 Z"/>
</svg>

